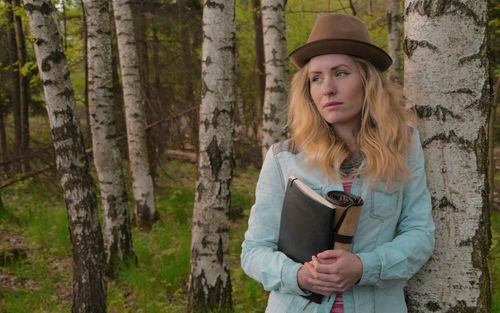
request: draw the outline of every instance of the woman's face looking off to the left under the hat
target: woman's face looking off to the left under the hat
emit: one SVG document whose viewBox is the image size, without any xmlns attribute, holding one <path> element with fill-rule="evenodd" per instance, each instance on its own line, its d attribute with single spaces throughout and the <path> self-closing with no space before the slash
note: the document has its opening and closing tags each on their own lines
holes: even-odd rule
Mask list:
<svg viewBox="0 0 500 313">
<path fill-rule="evenodd" d="M 359 130 L 364 88 L 354 60 L 345 54 L 325 54 L 309 61 L 311 98 L 334 128 Z"/>
</svg>

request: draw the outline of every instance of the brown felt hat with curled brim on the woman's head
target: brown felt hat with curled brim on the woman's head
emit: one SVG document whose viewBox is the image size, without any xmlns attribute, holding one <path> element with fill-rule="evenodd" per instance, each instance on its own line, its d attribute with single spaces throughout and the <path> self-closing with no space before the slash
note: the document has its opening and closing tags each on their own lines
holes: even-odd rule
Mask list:
<svg viewBox="0 0 500 313">
<path fill-rule="evenodd" d="M 380 71 L 392 64 L 391 57 L 371 44 L 368 28 L 360 19 L 347 14 L 326 14 L 314 23 L 307 43 L 293 50 L 289 57 L 298 68 L 315 56 L 348 54 L 370 61 Z"/>
</svg>

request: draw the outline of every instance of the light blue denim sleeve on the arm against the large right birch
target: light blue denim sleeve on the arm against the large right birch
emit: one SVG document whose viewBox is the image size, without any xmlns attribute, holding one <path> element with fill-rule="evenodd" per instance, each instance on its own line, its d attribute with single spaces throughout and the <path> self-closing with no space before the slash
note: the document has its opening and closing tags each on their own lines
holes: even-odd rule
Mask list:
<svg viewBox="0 0 500 313">
<path fill-rule="evenodd" d="M 432 206 L 424 169 L 424 155 L 417 130 L 409 153 L 410 179 L 403 189 L 397 234 L 371 252 L 358 253 L 363 262 L 359 285 L 383 287 L 391 280 L 410 279 L 429 259 L 434 249 Z"/>
</svg>

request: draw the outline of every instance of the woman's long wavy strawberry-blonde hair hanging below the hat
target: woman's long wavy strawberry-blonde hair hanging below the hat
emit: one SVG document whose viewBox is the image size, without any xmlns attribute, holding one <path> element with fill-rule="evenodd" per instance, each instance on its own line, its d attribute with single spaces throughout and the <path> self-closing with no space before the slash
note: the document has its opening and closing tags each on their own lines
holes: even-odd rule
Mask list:
<svg viewBox="0 0 500 313">
<path fill-rule="evenodd" d="M 401 186 L 409 176 L 406 151 L 411 145 L 415 113 L 404 106 L 401 90 L 371 63 L 352 57 L 362 76 L 364 104 L 361 129 L 356 136 L 365 166 L 355 174 L 368 174 L 370 186 L 385 182 Z M 349 157 L 347 145 L 319 113 L 309 89 L 309 63 L 293 77 L 288 109 L 288 127 L 307 161 L 319 166 L 333 181 L 343 175 L 340 165 Z"/>
</svg>

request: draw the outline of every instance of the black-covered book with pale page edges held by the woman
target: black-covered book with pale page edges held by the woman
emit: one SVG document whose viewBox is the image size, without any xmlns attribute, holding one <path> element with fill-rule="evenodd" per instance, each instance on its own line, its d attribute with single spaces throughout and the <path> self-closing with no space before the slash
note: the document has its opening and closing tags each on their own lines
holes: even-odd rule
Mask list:
<svg viewBox="0 0 500 313">
<path fill-rule="evenodd" d="M 295 177 L 290 177 L 281 212 L 278 250 L 304 264 L 333 249 L 335 206 Z M 313 293 L 309 300 L 321 303 Z"/>
</svg>

